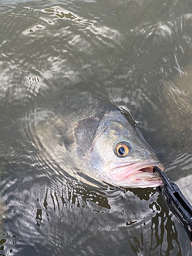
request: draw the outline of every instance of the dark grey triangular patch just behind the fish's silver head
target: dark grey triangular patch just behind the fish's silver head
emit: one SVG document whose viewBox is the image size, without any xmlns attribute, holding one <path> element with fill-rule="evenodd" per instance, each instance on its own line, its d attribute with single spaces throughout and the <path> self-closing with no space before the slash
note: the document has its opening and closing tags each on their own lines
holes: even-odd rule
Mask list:
<svg viewBox="0 0 192 256">
<path fill-rule="evenodd" d="M 84 158 L 86 153 L 90 150 L 98 125 L 99 119 L 97 118 L 84 119 L 78 122 L 75 129 L 75 138 L 77 143 L 77 155 L 80 159 Z"/>
</svg>

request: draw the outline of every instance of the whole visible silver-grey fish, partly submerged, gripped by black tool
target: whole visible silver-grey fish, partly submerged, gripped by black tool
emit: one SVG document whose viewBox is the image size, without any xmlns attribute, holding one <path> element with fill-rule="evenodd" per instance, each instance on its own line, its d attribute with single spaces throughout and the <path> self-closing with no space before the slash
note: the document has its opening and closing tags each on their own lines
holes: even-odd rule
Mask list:
<svg viewBox="0 0 192 256">
<path fill-rule="evenodd" d="M 49 102 L 50 105 L 50 102 Z M 66 89 L 49 110 L 36 109 L 35 130 L 44 147 L 95 180 L 122 187 L 156 187 L 162 167 L 126 111 L 90 93 Z"/>
</svg>

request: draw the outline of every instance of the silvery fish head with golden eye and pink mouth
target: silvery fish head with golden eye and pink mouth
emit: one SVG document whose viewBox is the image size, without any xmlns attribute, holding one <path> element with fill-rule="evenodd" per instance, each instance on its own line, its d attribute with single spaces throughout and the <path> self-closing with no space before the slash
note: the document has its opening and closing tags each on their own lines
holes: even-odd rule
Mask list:
<svg viewBox="0 0 192 256">
<path fill-rule="evenodd" d="M 132 188 L 162 185 L 153 167 L 163 170 L 163 166 L 137 128 L 123 118 L 108 116 L 100 123 L 84 160 L 96 176 L 113 185 Z"/>
</svg>

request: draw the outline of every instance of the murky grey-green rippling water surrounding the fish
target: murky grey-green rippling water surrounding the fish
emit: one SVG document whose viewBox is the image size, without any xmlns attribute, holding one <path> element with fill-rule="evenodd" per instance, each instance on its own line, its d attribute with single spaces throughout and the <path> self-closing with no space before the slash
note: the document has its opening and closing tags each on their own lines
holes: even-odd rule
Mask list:
<svg viewBox="0 0 192 256">
<path fill-rule="evenodd" d="M 191 1 L 0 3 L 0 255 L 191 255 L 154 189 L 92 185 L 39 147 L 37 102 L 75 86 L 129 110 L 192 203 Z"/>
</svg>

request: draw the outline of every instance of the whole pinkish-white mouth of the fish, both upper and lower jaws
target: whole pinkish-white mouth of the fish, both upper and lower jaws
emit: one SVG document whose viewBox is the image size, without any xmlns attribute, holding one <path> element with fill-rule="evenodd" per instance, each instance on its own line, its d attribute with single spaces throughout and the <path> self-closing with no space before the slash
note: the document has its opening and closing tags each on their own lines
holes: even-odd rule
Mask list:
<svg viewBox="0 0 192 256">
<path fill-rule="evenodd" d="M 116 185 L 123 187 L 157 187 L 162 185 L 162 180 L 153 167 L 164 167 L 159 162 L 133 162 L 117 164 L 109 173 Z"/>
</svg>

